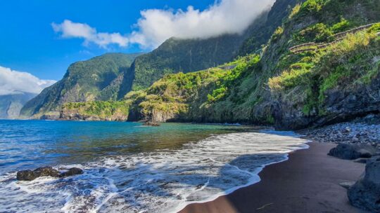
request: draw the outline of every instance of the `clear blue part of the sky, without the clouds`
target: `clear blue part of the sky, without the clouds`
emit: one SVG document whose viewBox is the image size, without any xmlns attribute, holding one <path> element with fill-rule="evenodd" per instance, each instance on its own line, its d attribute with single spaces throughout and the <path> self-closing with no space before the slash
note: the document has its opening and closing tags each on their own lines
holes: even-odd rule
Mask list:
<svg viewBox="0 0 380 213">
<path fill-rule="evenodd" d="M 53 31 L 51 23 L 64 20 L 86 23 L 98 32 L 129 34 L 141 17 L 140 11 L 158 8 L 186 10 L 191 5 L 204 10 L 213 0 L 138 0 L 138 1 L 0 1 L 0 66 L 27 71 L 43 79 L 60 80 L 69 64 L 107 52 L 134 53 L 139 45 L 94 43 L 84 46 L 83 39 L 64 39 Z"/>
</svg>

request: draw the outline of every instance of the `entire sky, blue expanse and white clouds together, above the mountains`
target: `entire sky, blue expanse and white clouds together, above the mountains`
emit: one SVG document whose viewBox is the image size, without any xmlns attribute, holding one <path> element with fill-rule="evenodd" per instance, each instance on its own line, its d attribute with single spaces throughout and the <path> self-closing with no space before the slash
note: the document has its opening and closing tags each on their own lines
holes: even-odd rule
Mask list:
<svg viewBox="0 0 380 213">
<path fill-rule="evenodd" d="M 172 36 L 241 33 L 273 1 L 0 1 L 0 91 L 11 92 L 14 83 L 6 81 L 29 74 L 44 88 L 73 62 L 110 52 L 148 52 Z"/>
</svg>

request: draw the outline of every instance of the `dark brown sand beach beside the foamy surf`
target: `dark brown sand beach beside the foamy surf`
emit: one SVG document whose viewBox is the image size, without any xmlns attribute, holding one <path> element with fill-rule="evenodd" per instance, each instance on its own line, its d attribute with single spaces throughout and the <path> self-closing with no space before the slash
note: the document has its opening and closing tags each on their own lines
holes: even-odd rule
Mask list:
<svg viewBox="0 0 380 213">
<path fill-rule="evenodd" d="M 365 164 L 327 156 L 336 144 L 309 145 L 290 153 L 289 160 L 265 167 L 258 184 L 188 205 L 181 212 L 365 212 L 352 207 L 346 188 L 339 186 L 356 181 Z"/>
</svg>

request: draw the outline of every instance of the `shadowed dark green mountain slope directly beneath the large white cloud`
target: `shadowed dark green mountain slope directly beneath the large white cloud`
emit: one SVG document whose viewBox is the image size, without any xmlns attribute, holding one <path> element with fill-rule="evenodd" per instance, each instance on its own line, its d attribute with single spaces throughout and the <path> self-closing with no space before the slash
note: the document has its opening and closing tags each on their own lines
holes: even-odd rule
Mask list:
<svg viewBox="0 0 380 213">
<path fill-rule="evenodd" d="M 155 81 L 178 72 L 191 72 L 217 67 L 238 55 L 255 52 L 296 5 L 297 0 L 277 0 L 263 12 L 243 34 L 230 34 L 210 39 L 168 39 L 156 50 L 137 57 L 132 66 L 132 90 L 148 88 Z"/>
</svg>

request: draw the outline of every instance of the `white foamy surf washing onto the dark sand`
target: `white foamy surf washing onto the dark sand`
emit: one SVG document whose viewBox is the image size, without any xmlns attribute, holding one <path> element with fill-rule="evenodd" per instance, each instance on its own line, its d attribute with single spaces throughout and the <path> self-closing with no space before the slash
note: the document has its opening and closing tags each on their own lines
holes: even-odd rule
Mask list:
<svg viewBox="0 0 380 213">
<path fill-rule="evenodd" d="M 103 158 L 65 179 L 0 177 L 0 212 L 177 212 L 260 181 L 307 141 L 293 132 L 215 135 L 179 150 Z M 58 165 L 70 167 L 72 165 Z"/>
</svg>

